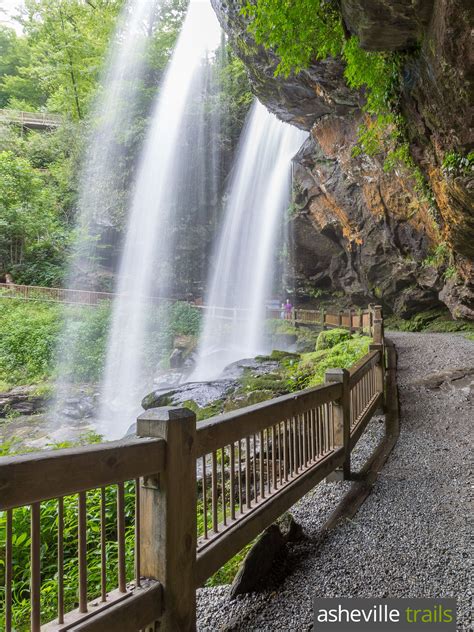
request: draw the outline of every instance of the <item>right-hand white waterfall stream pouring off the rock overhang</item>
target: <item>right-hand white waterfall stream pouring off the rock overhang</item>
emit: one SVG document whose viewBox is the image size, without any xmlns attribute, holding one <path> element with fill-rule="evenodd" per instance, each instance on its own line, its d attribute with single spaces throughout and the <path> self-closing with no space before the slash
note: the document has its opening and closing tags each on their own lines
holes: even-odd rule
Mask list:
<svg viewBox="0 0 474 632">
<path fill-rule="evenodd" d="M 290 201 L 292 158 L 306 136 L 254 103 L 228 191 L 193 380 L 214 379 L 227 364 L 263 351 L 278 227 Z"/>
</svg>

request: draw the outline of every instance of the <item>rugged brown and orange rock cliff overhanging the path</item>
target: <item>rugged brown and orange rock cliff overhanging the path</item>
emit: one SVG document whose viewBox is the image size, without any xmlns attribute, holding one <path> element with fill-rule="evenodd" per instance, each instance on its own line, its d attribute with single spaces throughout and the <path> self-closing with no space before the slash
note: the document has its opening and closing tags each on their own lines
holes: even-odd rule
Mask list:
<svg viewBox="0 0 474 632">
<path fill-rule="evenodd" d="M 239 2 L 212 4 L 258 98 L 310 132 L 295 159 L 297 282 L 342 291 L 354 304 L 381 301 L 407 317 L 445 303 L 455 317 L 474 319 L 472 178 L 446 175 L 441 167 L 447 152 L 472 148 L 471 0 L 341 3 L 346 30 L 367 49 L 406 50 L 422 38 L 404 68 L 401 101 L 410 151 L 431 200 L 407 168 L 386 173 L 384 155 L 353 156 L 366 115 L 340 60 L 275 78 L 278 59 L 252 40 Z M 454 260 L 445 256 L 448 249 Z"/>
</svg>

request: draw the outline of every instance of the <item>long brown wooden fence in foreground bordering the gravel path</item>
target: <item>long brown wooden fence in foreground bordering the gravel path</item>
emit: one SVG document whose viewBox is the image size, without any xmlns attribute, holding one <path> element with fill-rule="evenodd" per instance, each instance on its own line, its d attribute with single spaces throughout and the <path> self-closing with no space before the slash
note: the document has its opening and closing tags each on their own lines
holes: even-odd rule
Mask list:
<svg viewBox="0 0 474 632">
<path fill-rule="evenodd" d="M 196 587 L 329 474 L 351 479 L 354 446 L 376 410 L 391 409 L 381 309 L 371 314 L 369 353 L 350 370 L 327 371 L 322 386 L 198 425 L 190 410 L 152 409 L 138 418 L 137 438 L 0 459 L 0 510 L 6 512 L 2 629 L 14 629 L 15 512 L 30 506 L 33 632 L 148 632 L 158 621 L 160 630 L 168 632 L 195 630 Z M 339 326 L 340 315 L 334 318 Z M 354 321 L 345 326 L 354 327 Z M 393 381 L 391 356 L 388 368 Z M 113 515 L 106 511 L 108 486 L 115 489 Z M 133 551 L 126 550 L 125 489 L 133 496 Z M 91 495 L 91 490 L 98 493 Z M 71 495 L 77 495 L 78 607 L 67 612 L 64 503 Z M 58 616 L 41 627 L 45 501 L 57 503 Z M 88 542 L 91 502 L 98 504 L 100 517 L 93 551 Z M 112 520 L 117 564 L 111 579 L 106 558 Z M 132 554 L 133 578 L 126 572 L 126 555 Z M 99 586 L 88 586 L 91 556 L 100 559 Z"/>
</svg>

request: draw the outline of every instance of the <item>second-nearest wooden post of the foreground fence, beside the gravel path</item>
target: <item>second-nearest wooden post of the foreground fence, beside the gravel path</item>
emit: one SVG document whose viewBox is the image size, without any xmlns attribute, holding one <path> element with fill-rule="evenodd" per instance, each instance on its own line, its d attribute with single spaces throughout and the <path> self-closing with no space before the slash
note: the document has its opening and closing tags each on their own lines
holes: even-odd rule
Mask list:
<svg viewBox="0 0 474 632">
<path fill-rule="evenodd" d="M 344 447 L 345 459 L 342 472 L 330 474 L 326 480 L 349 480 L 351 477 L 351 397 L 349 389 L 349 371 L 347 369 L 328 369 L 324 376 L 325 384 L 334 382 L 342 385 L 341 398 L 332 404 L 334 415 L 334 440 L 336 445 Z M 342 476 L 341 476 L 342 474 Z"/>
</svg>

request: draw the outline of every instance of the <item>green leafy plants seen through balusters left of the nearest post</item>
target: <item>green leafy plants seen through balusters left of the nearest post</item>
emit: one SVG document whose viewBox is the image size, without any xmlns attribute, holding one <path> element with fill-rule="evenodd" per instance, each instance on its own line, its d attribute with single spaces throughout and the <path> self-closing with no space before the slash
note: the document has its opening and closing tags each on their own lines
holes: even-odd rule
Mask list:
<svg viewBox="0 0 474 632">
<path fill-rule="evenodd" d="M 87 561 L 88 599 L 100 595 L 100 500 L 101 491 L 87 494 Z M 126 578 L 130 581 L 134 572 L 134 509 L 133 483 L 125 484 L 125 565 Z M 64 498 L 64 602 L 66 612 L 78 606 L 78 545 L 77 545 L 77 496 Z M 29 507 L 13 510 L 13 626 L 18 632 L 29 630 L 30 618 L 30 516 Z M 117 498 L 116 488 L 105 489 L 106 518 L 106 576 L 107 590 L 117 586 Z M 6 513 L 0 513 L 0 610 L 5 600 L 5 531 Z M 58 501 L 41 504 L 41 620 L 42 623 L 57 616 L 57 537 Z"/>
</svg>

